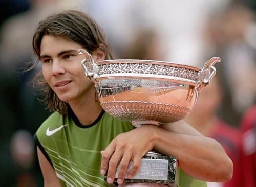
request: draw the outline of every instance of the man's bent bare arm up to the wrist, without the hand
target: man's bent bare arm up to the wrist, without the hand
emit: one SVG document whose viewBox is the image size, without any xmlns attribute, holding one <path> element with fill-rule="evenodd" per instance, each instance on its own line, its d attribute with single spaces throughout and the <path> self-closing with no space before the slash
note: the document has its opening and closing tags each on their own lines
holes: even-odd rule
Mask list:
<svg viewBox="0 0 256 187">
<path fill-rule="evenodd" d="M 160 126 L 162 129 L 155 149 L 174 155 L 180 167 L 199 180 L 224 182 L 232 178 L 233 163 L 215 139 L 205 137 L 196 129 L 179 121 Z M 168 137 L 172 141 L 168 141 Z"/>
</svg>

